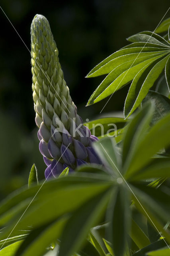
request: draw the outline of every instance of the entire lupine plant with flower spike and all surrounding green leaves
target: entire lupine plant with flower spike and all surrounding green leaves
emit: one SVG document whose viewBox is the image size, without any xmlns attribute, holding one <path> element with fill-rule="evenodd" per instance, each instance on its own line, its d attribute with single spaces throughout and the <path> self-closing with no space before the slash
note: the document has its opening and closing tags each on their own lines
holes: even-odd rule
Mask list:
<svg viewBox="0 0 170 256">
<path fill-rule="evenodd" d="M 38 181 L 33 165 L 28 187 L 1 202 L 0 256 L 170 255 L 170 18 L 127 40 L 87 75 L 107 74 L 87 105 L 130 84 L 125 118 L 83 124 L 49 22 L 33 18 L 33 102 L 47 168 Z"/>
</svg>

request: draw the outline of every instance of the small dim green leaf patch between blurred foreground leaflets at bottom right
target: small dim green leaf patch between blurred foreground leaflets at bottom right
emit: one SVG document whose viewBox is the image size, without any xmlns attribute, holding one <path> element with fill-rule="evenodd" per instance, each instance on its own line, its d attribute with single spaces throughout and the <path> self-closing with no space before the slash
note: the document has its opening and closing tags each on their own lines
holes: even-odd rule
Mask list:
<svg viewBox="0 0 170 256">
<path fill-rule="evenodd" d="M 145 235 L 143 230 L 137 225 L 137 223 L 131 219 L 131 232 L 129 234 L 135 244 L 142 249 L 150 244 L 149 238 Z"/>
</svg>

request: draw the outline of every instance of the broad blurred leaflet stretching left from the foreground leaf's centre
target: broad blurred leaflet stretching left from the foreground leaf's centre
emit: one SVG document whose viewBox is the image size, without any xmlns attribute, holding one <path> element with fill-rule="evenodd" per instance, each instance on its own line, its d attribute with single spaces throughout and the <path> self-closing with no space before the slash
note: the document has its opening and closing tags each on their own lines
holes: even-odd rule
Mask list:
<svg viewBox="0 0 170 256">
<path fill-rule="evenodd" d="M 77 178 L 73 177 L 74 175 L 81 177 L 78 178 L 80 182 L 77 183 L 78 180 Z M 39 196 L 35 198 L 33 202 L 31 202 L 32 198 L 30 199 L 29 202 L 31 202 L 31 205 L 22 216 L 20 222 L 18 222 L 17 229 L 23 229 L 28 225 L 32 225 L 35 228 L 54 220 L 55 218 L 59 218 L 65 213 L 72 212 L 86 200 L 92 198 L 96 194 L 101 193 L 102 191 L 107 190 L 107 188 L 113 184 L 113 181 L 109 181 L 109 177 L 107 178 L 106 175 L 102 175 L 100 177 L 100 174 L 92 174 L 92 178 L 89 178 L 89 174 L 76 172 L 76 174 L 73 174 L 73 176 L 59 178 L 55 181 L 53 180 L 43 184 L 44 187 L 50 188 L 48 185 L 52 185 L 54 182 L 55 190 L 51 191 L 51 189 L 49 189 L 47 194 L 43 195 L 41 195 L 40 190 Z M 95 182 L 95 176 L 100 177 L 100 181 L 98 180 L 98 182 Z M 86 180 L 84 184 L 82 183 L 83 180 Z M 94 182 L 92 180 L 94 180 Z M 108 181 L 106 182 L 106 180 Z M 72 182 L 69 184 L 68 181 Z M 22 193 L 20 194 L 20 200 L 21 198 Z M 21 214 L 16 212 L 12 220 L 7 223 L 7 227 L 4 229 L 3 233 L 0 234 L 1 239 L 6 238 L 10 234 L 20 217 Z M 15 230 L 12 232 L 12 235 L 14 234 Z"/>
</svg>

